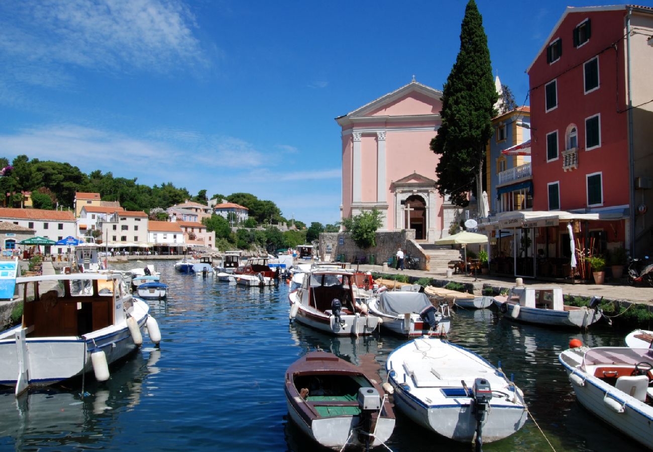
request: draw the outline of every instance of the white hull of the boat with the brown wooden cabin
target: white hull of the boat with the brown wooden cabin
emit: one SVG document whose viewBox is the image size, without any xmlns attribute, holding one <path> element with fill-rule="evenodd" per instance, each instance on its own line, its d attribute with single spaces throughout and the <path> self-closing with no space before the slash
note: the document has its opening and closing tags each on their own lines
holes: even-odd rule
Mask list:
<svg viewBox="0 0 653 452">
<path fill-rule="evenodd" d="M 149 308 L 146 302 L 138 300 L 134 300 L 134 307 L 138 328 L 142 332 L 148 319 Z M 21 327 L 16 327 L 12 332 L 20 330 Z M 137 348 L 126 323 L 84 334 L 82 338 L 25 338 L 24 343 L 29 369 L 27 383 L 33 387 L 52 385 L 90 372 L 93 370 L 91 351 L 94 349 L 104 351 L 107 363 L 111 364 Z M 16 385 L 19 353 L 15 334 L 0 340 L 0 356 L 3 359 L 3 366 L 0 366 L 0 384 L 12 387 Z"/>
</svg>

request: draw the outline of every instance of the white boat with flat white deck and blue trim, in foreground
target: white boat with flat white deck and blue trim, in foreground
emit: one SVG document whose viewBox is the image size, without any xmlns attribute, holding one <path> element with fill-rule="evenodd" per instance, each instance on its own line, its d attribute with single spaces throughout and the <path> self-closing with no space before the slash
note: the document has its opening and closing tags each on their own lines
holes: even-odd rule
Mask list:
<svg viewBox="0 0 653 452">
<path fill-rule="evenodd" d="M 394 406 L 413 421 L 460 442 L 493 442 L 526 423 L 522 391 L 468 349 L 434 337 L 407 342 L 386 363 Z"/>
</svg>

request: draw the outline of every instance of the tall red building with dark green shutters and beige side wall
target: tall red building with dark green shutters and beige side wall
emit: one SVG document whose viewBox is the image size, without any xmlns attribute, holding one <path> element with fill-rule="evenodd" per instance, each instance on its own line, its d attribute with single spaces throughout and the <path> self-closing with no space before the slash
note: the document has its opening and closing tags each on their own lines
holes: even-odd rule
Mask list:
<svg viewBox="0 0 653 452">
<path fill-rule="evenodd" d="M 653 243 L 652 34 L 652 8 L 568 7 L 527 71 L 533 210 L 598 214 L 575 225 L 595 252 Z M 567 254 L 548 242 L 564 234 L 538 234 L 538 249 Z"/>
</svg>

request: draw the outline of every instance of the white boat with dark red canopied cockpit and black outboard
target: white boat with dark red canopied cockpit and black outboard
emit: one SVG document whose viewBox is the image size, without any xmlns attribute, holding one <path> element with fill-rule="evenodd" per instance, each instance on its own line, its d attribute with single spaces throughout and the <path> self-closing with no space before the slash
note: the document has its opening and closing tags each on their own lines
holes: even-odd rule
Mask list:
<svg viewBox="0 0 653 452">
<path fill-rule="evenodd" d="M 379 317 L 356 303 L 353 275 L 347 271 L 316 270 L 304 274 L 302 285 L 288 295 L 291 321 L 337 335 L 372 334 Z"/>
</svg>

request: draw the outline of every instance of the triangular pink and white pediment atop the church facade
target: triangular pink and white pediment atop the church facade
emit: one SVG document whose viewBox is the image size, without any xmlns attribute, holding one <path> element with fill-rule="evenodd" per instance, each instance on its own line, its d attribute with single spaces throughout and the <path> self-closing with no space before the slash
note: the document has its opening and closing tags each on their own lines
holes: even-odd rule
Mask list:
<svg viewBox="0 0 653 452">
<path fill-rule="evenodd" d="M 442 91 L 410 82 L 336 120 L 343 125 L 348 120 L 374 116 L 439 115 L 441 109 Z"/>
</svg>

